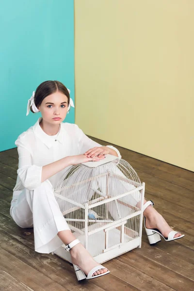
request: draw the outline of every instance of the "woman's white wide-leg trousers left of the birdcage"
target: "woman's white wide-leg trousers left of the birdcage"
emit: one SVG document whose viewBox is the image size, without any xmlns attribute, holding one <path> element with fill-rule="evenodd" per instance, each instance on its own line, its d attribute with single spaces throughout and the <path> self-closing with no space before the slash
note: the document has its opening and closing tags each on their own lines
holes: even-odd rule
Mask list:
<svg viewBox="0 0 194 291">
<path fill-rule="evenodd" d="M 70 230 L 49 180 L 34 190 L 24 189 L 11 203 L 10 214 L 20 227 L 33 227 L 36 252 L 49 254 L 63 242 L 57 233 Z"/>
</svg>

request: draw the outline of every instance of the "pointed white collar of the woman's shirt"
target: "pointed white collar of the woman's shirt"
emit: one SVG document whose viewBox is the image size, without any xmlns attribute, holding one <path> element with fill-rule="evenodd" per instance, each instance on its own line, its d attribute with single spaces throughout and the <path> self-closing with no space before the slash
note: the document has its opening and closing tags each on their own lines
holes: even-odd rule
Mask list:
<svg viewBox="0 0 194 291">
<path fill-rule="evenodd" d="M 34 124 L 34 126 L 32 127 L 34 134 L 38 137 L 38 139 L 40 139 L 48 148 L 54 146 L 55 143 L 59 142 L 61 144 L 63 144 L 64 141 L 64 131 L 65 129 L 63 128 L 63 126 L 60 126 L 60 131 L 59 134 L 57 136 L 57 142 L 55 142 L 55 139 L 53 137 L 52 140 L 52 136 L 48 135 L 46 132 L 44 132 L 41 127 L 39 122 L 41 121 L 42 117 L 38 118 L 37 122 Z"/>
</svg>

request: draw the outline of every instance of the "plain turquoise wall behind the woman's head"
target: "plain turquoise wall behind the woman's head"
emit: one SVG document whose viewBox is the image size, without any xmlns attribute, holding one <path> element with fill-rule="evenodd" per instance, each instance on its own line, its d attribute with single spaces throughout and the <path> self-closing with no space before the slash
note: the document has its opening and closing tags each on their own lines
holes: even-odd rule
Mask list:
<svg viewBox="0 0 194 291">
<path fill-rule="evenodd" d="M 40 113 L 26 107 L 32 91 L 46 80 L 63 82 L 74 100 L 74 1 L 6 0 L 0 4 L 0 151 Z M 74 123 L 71 108 L 66 122 Z"/>
</svg>

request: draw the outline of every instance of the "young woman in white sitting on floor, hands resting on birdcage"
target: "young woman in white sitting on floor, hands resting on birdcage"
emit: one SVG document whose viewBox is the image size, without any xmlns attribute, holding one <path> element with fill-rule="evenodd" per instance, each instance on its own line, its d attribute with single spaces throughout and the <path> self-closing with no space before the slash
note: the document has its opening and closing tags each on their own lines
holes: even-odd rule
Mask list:
<svg viewBox="0 0 194 291">
<path fill-rule="evenodd" d="M 35 251 L 50 253 L 65 243 L 72 263 L 90 279 L 109 271 L 71 233 L 53 189 L 68 166 L 99 161 L 105 154 L 121 156 L 113 146 L 101 146 L 89 139 L 77 125 L 63 123 L 70 106 L 74 107 L 69 93 L 61 82 L 45 81 L 28 101 L 27 115 L 31 110 L 41 112 L 42 117 L 16 140 L 19 164 L 10 214 L 18 226 L 34 228 Z M 151 206 L 153 203 L 145 200 L 148 235 L 151 231 L 151 235 L 160 234 L 167 241 L 181 238 Z"/>
</svg>

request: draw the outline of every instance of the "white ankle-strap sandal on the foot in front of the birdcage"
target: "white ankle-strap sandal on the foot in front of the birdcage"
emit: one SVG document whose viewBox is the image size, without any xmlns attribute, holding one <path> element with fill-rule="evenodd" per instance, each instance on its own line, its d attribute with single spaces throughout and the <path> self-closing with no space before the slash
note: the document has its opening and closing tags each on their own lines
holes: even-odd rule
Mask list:
<svg viewBox="0 0 194 291">
<path fill-rule="evenodd" d="M 66 250 L 66 251 L 69 251 L 70 249 L 72 249 L 72 247 L 74 247 L 74 246 L 75 246 L 76 244 L 78 244 L 78 243 L 80 243 L 80 241 L 79 241 L 78 239 L 74 240 L 73 242 L 70 242 L 69 244 L 67 244 L 67 245 L 65 246 L 65 250 Z M 85 275 L 85 273 L 84 273 L 84 272 L 83 272 L 83 271 L 82 271 L 78 266 L 76 266 L 76 265 L 74 265 L 74 264 L 73 264 L 73 266 L 74 266 L 74 269 L 75 269 L 75 272 L 76 272 L 76 275 L 77 275 L 78 281 L 81 281 L 81 280 L 83 280 L 83 279 L 86 279 L 86 280 L 94 279 L 94 278 L 97 278 L 97 277 L 100 277 L 100 276 L 104 276 L 104 275 L 107 275 L 107 274 L 110 273 L 110 271 L 109 271 L 107 268 L 103 267 L 102 265 L 98 265 L 98 266 L 94 267 L 94 268 L 93 268 L 93 269 L 88 273 L 88 275 Z M 99 275 L 94 275 L 94 276 L 93 276 L 93 274 L 94 274 L 96 271 L 100 270 L 100 269 L 107 269 L 108 271 L 105 272 L 105 273 L 103 273 L 103 274 L 99 274 Z"/>
</svg>

